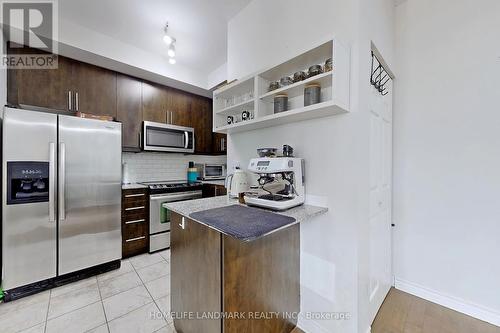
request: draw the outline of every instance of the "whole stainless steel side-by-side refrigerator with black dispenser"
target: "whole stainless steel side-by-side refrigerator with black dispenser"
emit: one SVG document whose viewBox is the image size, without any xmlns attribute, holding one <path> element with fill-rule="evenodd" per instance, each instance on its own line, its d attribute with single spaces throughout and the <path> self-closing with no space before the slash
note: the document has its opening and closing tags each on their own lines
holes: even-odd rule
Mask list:
<svg viewBox="0 0 500 333">
<path fill-rule="evenodd" d="M 2 287 L 121 258 L 121 124 L 5 108 Z"/>
</svg>

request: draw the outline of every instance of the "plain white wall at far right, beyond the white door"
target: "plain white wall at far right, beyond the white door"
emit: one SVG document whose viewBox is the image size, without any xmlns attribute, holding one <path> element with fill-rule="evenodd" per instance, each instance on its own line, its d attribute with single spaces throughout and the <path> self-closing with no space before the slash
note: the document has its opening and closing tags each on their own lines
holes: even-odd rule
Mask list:
<svg viewBox="0 0 500 333">
<path fill-rule="evenodd" d="M 397 286 L 500 325 L 500 2 L 397 7 Z"/>
</svg>

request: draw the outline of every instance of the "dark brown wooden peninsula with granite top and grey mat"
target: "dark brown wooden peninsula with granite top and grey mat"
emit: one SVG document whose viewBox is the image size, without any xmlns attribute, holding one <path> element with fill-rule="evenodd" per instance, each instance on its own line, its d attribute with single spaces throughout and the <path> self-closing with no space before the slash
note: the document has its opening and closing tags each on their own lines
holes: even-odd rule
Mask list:
<svg viewBox="0 0 500 333">
<path fill-rule="evenodd" d="M 226 196 L 164 204 L 172 212 L 171 309 L 180 333 L 288 333 L 297 324 L 300 223 L 327 209 L 302 205 L 268 215 L 237 205 Z M 224 224 L 221 209 L 243 213 Z M 276 228 L 245 216 L 259 211 Z"/>
</svg>

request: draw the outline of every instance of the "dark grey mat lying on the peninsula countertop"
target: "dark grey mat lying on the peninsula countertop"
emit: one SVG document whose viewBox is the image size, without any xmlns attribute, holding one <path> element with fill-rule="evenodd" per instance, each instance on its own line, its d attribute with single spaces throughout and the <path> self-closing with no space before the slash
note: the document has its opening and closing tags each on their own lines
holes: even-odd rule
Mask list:
<svg viewBox="0 0 500 333">
<path fill-rule="evenodd" d="M 259 238 L 276 229 L 295 223 L 293 217 L 240 205 L 204 210 L 189 216 L 244 241 Z"/>
</svg>

